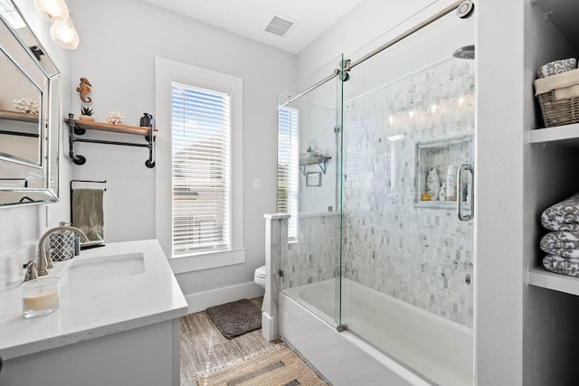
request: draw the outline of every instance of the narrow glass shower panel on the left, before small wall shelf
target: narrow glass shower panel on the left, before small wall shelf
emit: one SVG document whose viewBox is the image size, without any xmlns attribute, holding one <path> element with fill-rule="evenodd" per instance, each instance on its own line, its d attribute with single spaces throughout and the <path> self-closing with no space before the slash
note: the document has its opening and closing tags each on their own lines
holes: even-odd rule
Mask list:
<svg viewBox="0 0 579 386">
<path fill-rule="evenodd" d="M 278 97 L 278 212 L 291 216 L 280 288 L 333 326 L 341 324 L 343 85 L 331 74 L 342 60 Z"/>
</svg>

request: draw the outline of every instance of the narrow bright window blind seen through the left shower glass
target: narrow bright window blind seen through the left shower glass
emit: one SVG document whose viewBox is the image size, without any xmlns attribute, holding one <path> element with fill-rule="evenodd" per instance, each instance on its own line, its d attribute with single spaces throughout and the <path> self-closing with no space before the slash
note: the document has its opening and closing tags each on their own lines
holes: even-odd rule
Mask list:
<svg viewBox="0 0 579 386">
<path fill-rule="evenodd" d="M 288 239 L 298 238 L 299 110 L 278 108 L 278 212 L 289 213 Z"/>
</svg>

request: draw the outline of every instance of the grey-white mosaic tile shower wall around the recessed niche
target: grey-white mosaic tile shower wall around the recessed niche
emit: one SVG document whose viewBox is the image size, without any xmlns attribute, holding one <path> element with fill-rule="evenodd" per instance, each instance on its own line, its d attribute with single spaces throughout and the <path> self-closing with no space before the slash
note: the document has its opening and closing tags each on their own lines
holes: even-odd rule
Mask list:
<svg viewBox="0 0 579 386">
<path fill-rule="evenodd" d="M 344 119 L 345 277 L 471 327 L 474 224 L 415 201 L 416 145 L 473 134 L 473 61 L 374 89 L 346 102 Z"/>
</svg>

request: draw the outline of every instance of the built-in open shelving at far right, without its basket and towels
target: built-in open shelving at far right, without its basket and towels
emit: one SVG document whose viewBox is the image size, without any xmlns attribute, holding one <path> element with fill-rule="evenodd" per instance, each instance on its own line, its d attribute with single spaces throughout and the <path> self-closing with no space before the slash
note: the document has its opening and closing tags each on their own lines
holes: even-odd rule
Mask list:
<svg viewBox="0 0 579 386">
<path fill-rule="evenodd" d="M 535 98 L 538 69 L 577 58 L 579 4 L 575 0 L 525 1 L 524 60 L 524 279 L 523 384 L 579 384 L 579 278 L 542 266 L 541 213 L 579 192 L 579 125 L 547 127 Z"/>
</svg>

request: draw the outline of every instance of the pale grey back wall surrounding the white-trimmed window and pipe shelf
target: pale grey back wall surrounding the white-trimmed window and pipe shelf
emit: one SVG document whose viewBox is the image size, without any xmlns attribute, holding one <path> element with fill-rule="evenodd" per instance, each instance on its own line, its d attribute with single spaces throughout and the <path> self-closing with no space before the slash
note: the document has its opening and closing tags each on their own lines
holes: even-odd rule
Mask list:
<svg viewBox="0 0 579 386">
<path fill-rule="evenodd" d="M 144 112 L 155 115 L 156 56 L 242 78 L 246 263 L 179 274 L 177 279 L 185 295 L 252 282 L 253 270 L 265 259 L 263 213 L 275 211 L 276 96 L 295 81 L 295 55 L 139 0 L 103 0 L 99 6 L 70 0 L 69 5 L 81 36 L 71 56 L 70 110 L 75 116 L 81 107 L 75 91 L 81 77 L 92 84 L 96 120 L 103 121 L 108 111 L 116 110 L 127 125 L 138 126 Z M 136 136 L 89 135 L 145 143 Z M 72 166 L 75 178 L 108 181 L 105 239 L 155 238 L 156 169 L 145 166 L 147 149 L 77 147 L 87 163 Z M 254 178 L 261 180 L 260 190 L 253 190 Z"/>
</svg>

